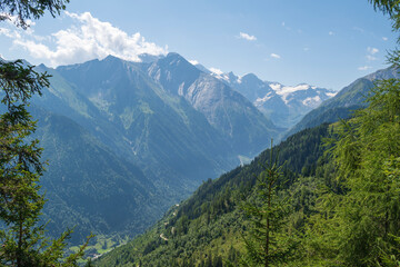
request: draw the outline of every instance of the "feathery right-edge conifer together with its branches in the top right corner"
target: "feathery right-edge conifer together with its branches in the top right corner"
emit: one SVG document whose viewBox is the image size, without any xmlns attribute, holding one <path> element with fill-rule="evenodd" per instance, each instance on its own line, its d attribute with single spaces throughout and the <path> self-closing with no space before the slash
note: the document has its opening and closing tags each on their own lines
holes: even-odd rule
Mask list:
<svg viewBox="0 0 400 267">
<path fill-rule="evenodd" d="M 399 1 L 370 2 L 399 30 Z M 388 58 L 397 70 L 398 55 L 394 50 Z M 311 220 L 318 266 L 400 263 L 400 80 L 377 81 L 367 102 L 336 127 L 331 155 L 341 190 L 323 194 L 320 215 Z"/>
</svg>

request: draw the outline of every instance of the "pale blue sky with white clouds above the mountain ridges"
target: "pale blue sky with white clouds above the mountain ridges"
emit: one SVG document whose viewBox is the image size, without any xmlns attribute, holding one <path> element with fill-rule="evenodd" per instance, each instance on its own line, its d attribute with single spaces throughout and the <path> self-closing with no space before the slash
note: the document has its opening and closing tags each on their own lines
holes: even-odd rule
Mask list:
<svg viewBox="0 0 400 267">
<path fill-rule="evenodd" d="M 339 90 L 386 68 L 396 33 L 368 0 L 71 0 L 27 31 L 0 23 L 0 55 L 47 66 L 178 52 L 214 71 Z"/>
</svg>

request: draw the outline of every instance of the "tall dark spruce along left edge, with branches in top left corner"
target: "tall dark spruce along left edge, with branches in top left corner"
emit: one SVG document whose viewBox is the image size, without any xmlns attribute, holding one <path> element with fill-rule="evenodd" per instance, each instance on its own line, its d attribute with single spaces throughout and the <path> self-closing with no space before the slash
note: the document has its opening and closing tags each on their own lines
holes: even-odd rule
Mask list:
<svg viewBox="0 0 400 267">
<path fill-rule="evenodd" d="M 64 9 L 68 0 L 0 1 L 0 20 L 17 16 L 16 23 L 27 28 L 27 19 L 40 18 L 46 10 L 52 16 Z M 0 266 L 78 266 L 83 245 L 77 254 L 64 258 L 67 230 L 59 239 L 44 238 L 44 226 L 39 216 L 46 202 L 39 192 L 39 178 L 44 171 L 42 149 L 30 135 L 36 121 L 27 111 L 32 95 L 41 95 L 49 86 L 49 76 L 38 73 L 22 60 L 0 59 Z"/>
</svg>

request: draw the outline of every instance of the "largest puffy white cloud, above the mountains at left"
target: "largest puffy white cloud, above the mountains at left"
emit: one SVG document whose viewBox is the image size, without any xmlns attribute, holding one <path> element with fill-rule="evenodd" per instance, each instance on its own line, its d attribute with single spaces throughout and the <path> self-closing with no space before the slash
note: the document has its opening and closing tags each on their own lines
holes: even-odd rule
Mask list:
<svg viewBox="0 0 400 267">
<path fill-rule="evenodd" d="M 93 18 L 90 12 L 81 14 L 66 12 L 77 26 L 51 34 L 50 46 L 40 40 L 47 39 L 30 33 L 13 38 L 13 43 L 27 49 L 34 58 L 46 61 L 51 67 L 83 62 L 90 59 L 102 59 L 109 55 L 130 61 L 140 61 L 139 55 L 164 55 L 162 48 L 146 41 L 140 32 L 129 36 L 109 22 Z"/>
</svg>

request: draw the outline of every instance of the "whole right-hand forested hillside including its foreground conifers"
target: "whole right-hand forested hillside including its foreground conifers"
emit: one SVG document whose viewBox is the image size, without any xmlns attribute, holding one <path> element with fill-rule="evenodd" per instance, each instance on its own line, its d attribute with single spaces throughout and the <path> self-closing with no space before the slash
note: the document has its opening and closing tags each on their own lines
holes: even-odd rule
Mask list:
<svg viewBox="0 0 400 267">
<path fill-rule="evenodd" d="M 371 2 L 398 30 L 399 3 Z M 389 61 L 397 70 L 398 50 Z M 376 81 L 364 97 L 349 119 L 204 181 L 97 266 L 399 266 L 399 80 Z"/>
</svg>

